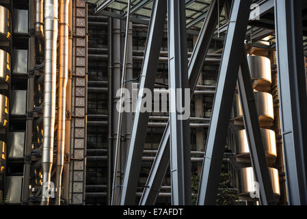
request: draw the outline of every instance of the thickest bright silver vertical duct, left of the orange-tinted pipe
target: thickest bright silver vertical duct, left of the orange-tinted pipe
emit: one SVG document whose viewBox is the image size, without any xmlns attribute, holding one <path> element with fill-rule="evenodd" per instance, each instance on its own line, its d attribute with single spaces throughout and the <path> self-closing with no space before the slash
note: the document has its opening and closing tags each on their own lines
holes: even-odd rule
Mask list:
<svg viewBox="0 0 307 219">
<path fill-rule="evenodd" d="M 44 137 L 42 146 L 42 201 L 49 205 L 48 194 L 51 185 L 53 164 L 53 138 L 55 129 L 55 92 L 57 74 L 57 0 L 46 0 L 44 4 Z"/>
</svg>

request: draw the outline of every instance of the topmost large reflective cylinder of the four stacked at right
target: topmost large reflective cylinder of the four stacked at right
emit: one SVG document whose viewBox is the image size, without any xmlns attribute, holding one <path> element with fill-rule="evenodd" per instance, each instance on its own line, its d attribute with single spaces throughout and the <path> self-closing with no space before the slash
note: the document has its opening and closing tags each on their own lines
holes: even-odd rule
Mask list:
<svg viewBox="0 0 307 219">
<path fill-rule="evenodd" d="M 271 61 L 263 56 L 248 56 L 248 66 L 253 88 L 257 91 L 267 91 L 271 87 Z"/>
</svg>

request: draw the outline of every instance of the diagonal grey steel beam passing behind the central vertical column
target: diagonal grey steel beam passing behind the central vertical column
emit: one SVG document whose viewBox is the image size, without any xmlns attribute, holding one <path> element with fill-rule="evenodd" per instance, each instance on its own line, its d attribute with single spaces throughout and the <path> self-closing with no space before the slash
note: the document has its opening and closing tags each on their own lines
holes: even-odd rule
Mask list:
<svg viewBox="0 0 307 219">
<path fill-rule="evenodd" d="M 200 75 L 200 70 L 202 65 L 200 63 L 204 62 L 204 58 L 208 53 L 209 45 L 211 43 L 215 27 L 217 25 L 217 1 L 211 1 L 209 6 L 209 14 L 204 20 L 204 25 L 201 29 L 199 39 L 196 42 L 196 46 L 191 55 L 191 61 L 189 62 L 189 86 L 191 90 L 195 89 L 198 81 L 198 75 Z M 219 8 L 219 12 L 222 8 Z M 201 50 L 203 49 L 203 51 Z M 198 68 L 194 68 L 193 64 L 197 64 Z M 157 199 L 157 194 L 163 177 L 170 163 L 170 146 L 168 140 L 170 137 L 170 121 L 165 127 L 161 142 L 159 144 L 159 149 L 155 158 L 155 162 L 152 164 L 148 179 L 146 181 L 146 186 L 139 205 L 154 205 Z"/>
</svg>

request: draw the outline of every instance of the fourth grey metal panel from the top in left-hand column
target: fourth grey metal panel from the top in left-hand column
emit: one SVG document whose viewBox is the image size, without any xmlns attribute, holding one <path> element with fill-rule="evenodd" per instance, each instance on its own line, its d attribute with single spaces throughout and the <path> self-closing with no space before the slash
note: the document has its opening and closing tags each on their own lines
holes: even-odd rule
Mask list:
<svg viewBox="0 0 307 219">
<path fill-rule="evenodd" d="M 25 132 L 10 132 L 8 142 L 8 158 L 24 156 Z"/>
</svg>

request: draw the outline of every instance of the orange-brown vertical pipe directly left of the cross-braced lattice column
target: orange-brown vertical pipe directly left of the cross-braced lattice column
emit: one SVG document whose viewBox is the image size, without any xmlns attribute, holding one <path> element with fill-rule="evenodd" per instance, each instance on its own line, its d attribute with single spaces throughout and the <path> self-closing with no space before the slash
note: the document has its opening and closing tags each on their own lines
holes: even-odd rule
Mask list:
<svg viewBox="0 0 307 219">
<path fill-rule="evenodd" d="M 72 34 L 72 1 L 69 1 L 68 5 L 68 36 Z M 70 33 L 70 34 L 69 34 Z M 72 36 L 68 37 L 68 78 L 66 86 L 66 112 L 71 114 L 71 71 L 72 71 Z M 66 157 L 70 157 L 70 124 L 71 120 L 65 121 L 65 147 L 64 154 Z M 69 203 L 69 175 L 70 175 L 70 159 L 66 159 L 63 169 L 63 199 L 64 203 Z"/>
</svg>

